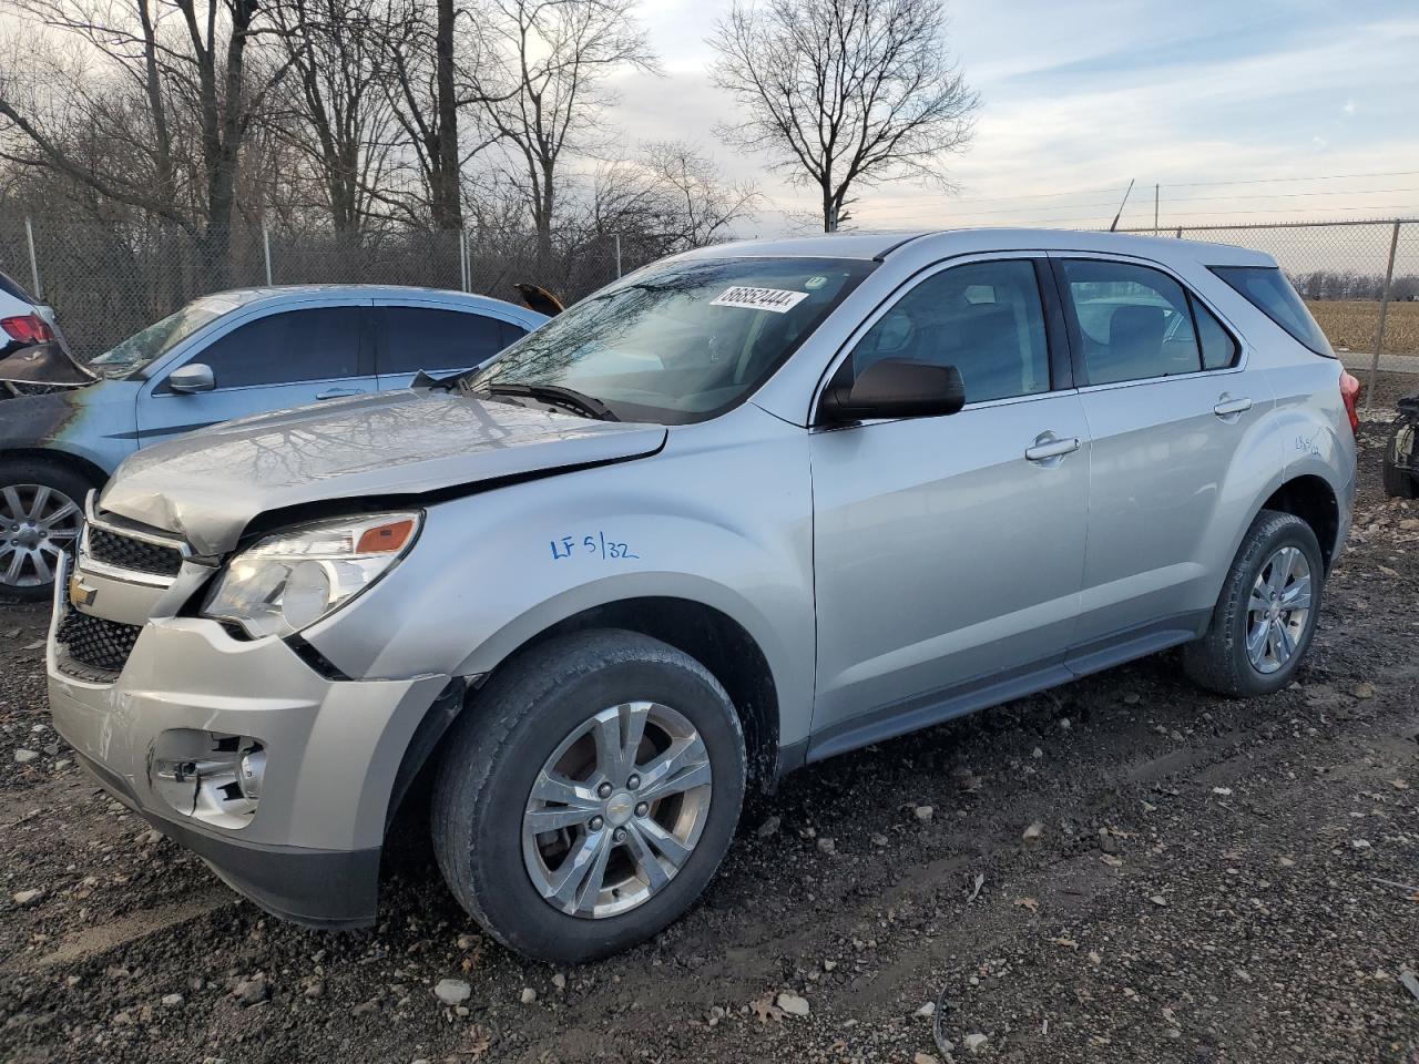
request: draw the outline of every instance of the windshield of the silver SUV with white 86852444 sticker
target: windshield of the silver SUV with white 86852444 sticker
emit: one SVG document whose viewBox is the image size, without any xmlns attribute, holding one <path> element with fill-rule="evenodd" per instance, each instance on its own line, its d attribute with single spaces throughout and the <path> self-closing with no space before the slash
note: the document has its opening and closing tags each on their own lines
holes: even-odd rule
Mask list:
<svg viewBox="0 0 1419 1064">
<path fill-rule="evenodd" d="M 874 262 L 724 258 L 650 265 L 558 315 L 467 380 L 551 384 L 624 421 L 684 424 L 738 406 Z"/>
</svg>

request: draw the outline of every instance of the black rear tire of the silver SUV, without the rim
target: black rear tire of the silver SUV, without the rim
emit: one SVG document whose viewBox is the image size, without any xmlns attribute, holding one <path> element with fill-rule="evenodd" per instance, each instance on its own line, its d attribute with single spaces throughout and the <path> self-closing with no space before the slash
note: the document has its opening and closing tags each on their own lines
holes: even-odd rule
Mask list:
<svg viewBox="0 0 1419 1064">
<path fill-rule="evenodd" d="M 1246 650 L 1247 600 L 1257 575 L 1284 546 L 1297 548 L 1310 566 L 1310 616 L 1290 660 L 1274 672 L 1261 672 L 1252 664 Z M 1269 695 L 1284 688 L 1291 682 L 1315 636 L 1324 584 L 1325 565 L 1311 526 L 1294 514 L 1263 509 L 1242 538 L 1242 546 L 1212 610 L 1208 631 L 1196 643 L 1183 647 L 1182 665 L 1188 677 L 1199 687 L 1230 698 Z"/>
</svg>

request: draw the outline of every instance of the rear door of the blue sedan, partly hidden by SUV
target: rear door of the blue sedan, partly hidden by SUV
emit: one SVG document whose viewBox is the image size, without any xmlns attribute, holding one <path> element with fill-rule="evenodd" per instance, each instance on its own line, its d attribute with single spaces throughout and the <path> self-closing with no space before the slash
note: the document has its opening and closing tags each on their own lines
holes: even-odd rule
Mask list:
<svg viewBox="0 0 1419 1064">
<path fill-rule="evenodd" d="M 526 331 L 475 311 L 436 305 L 375 304 L 375 365 L 380 392 L 434 376 L 477 369 Z"/>
</svg>

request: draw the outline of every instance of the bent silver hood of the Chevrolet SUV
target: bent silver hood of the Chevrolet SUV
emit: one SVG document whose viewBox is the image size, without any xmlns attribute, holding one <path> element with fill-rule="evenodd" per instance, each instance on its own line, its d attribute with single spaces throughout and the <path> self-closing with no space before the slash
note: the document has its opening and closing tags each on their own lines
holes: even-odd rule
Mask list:
<svg viewBox="0 0 1419 1064">
<path fill-rule="evenodd" d="M 419 497 L 654 454 L 663 426 L 593 421 L 437 390 L 261 414 L 129 457 L 99 508 L 231 550 L 270 511 Z"/>
</svg>

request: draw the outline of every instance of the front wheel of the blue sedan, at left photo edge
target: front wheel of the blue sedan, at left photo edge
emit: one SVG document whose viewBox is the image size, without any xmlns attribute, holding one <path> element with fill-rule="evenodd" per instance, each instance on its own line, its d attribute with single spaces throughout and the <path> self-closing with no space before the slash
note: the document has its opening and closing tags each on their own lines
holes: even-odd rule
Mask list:
<svg viewBox="0 0 1419 1064">
<path fill-rule="evenodd" d="M 60 556 L 74 550 L 92 485 L 37 461 L 0 462 L 0 594 L 45 599 Z"/>
</svg>

